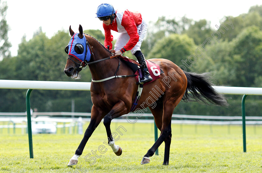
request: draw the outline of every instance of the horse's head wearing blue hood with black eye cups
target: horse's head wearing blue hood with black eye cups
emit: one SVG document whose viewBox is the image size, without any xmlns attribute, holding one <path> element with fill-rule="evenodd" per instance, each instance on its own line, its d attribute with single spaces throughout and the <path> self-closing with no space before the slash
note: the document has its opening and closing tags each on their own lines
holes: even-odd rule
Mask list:
<svg viewBox="0 0 262 173">
<path fill-rule="evenodd" d="M 91 50 L 83 34 L 83 28 L 79 25 L 79 32 L 75 33 L 71 26 L 69 27 L 71 39 L 65 47 L 65 52 L 68 54 L 64 72 L 68 77 L 73 79 L 78 78 L 78 73 L 86 67 L 90 61 Z"/>
</svg>

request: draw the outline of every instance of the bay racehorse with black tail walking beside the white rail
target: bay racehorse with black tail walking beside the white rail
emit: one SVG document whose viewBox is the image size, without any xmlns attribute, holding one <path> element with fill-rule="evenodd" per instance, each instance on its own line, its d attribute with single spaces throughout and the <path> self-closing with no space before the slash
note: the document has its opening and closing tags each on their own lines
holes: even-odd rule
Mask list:
<svg viewBox="0 0 262 173">
<path fill-rule="evenodd" d="M 73 38 L 75 32 L 71 29 L 71 26 L 69 27 L 69 32 Z M 110 130 L 110 123 L 114 118 L 129 113 L 138 90 L 137 81 L 134 77 L 114 77 L 116 76 L 116 69 L 118 69 L 117 73 L 120 75 L 132 75 L 133 71 L 126 63 L 120 61 L 120 58 L 109 58 L 112 57 L 110 51 L 94 37 L 84 34 L 81 25 L 79 25 L 78 37 L 80 39 L 85 37 L 87 44 L 83 45 L 82 48 L 86 46 L 86 51 L 90 51 L 90 56 L 87 61 L 85 57 L 84 62 L 70 54 L 64 72 L 68 77 L 77 78 L 81 68 L 89 66 L 92 75 L 90 92 L 93 106 L 90 124 L 68 166 L 77 164 L 78 157 L 81 156 L 88 139 L 102 119 L 104 119 L 109 146 L 111 146 L 117 156 L 122 154 L 121 147 L 115 145 Z M 79 46 L 75 46 L 75 49 L 76 52 L 80 51 Z M 66 51 L 68 52 L 68 47 Z M 84 52 L 84 54 L 87 53 Z M 205 103 L 211 102 L 218 106 L 227 106 L 227 101 L 223 95 L 212 88 L 212 83 L 206 73 L 184 72 L 167 59 L 150 59 L 150 61 L 158 64 L 163 73 L 160 74 L 160 78 L 143 87 L 136 111 L 149 107 L 161 133 L 157 141 L 143 156 L 141 164 L 149 163 L 149 157 L 153 156 L 158 147 L 165 142 L 163 165 L 168 165 L 172 136 L 171 117 L 177 104 L 183 99 L 184 101 L 203 101 Z M 104 80 L 103 82 L 93 82 L 110 77 L 114 78 Z M 157 88 L 159 94 L 153 94 L 153 88 Z M 151 93 L 150 96 L 149 93 Z"/>
</svg>

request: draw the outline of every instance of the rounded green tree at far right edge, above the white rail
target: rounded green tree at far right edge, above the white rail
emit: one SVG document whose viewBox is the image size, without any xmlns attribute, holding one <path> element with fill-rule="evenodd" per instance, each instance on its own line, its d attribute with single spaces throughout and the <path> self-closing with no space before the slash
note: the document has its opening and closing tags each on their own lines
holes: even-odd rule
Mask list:
<svg viewBox="0 0 262 173">
<path fill-rule="evenodd" d="M 247 27 L 234 40 L 233 54 L 240 58 L 237 67 L 237 86 L 255 86 L 262 76 L 262 31 Z M 261 85 L 261 84 L 260 84 Z"/>
</svg>

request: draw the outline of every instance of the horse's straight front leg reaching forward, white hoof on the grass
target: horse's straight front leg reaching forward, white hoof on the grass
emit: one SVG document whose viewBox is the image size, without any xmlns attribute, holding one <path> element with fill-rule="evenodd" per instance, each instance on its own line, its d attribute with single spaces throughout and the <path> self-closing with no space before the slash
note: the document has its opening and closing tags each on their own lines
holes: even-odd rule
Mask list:
<svg viewBox="0 0 262 173">
<path fill-rule="evenodd" d="M 78 148 L 76 149 L 75 155 L 70 159 L 67 166 L 72 166 L 77 164 L 78 157 L 82 155 L 86 142 L 88 141 L 92 133 L 95 131 L 96 127 L 99 125 L 102 118 L 103 115 L 101 115 L 99 111 L 95 108 L 95 106 L 93 106 L 91 110 L 91 120 L 87 129 L 85 130 L 84 137 L 80 142 Z"/>
</svg>

